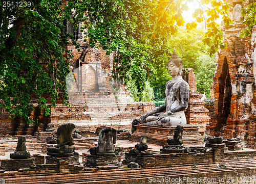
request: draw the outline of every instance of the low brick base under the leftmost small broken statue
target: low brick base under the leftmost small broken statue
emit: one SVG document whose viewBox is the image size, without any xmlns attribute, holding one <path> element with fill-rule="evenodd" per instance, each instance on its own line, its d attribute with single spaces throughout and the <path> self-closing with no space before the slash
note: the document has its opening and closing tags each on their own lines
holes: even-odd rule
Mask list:
<svg viewBox="0 0 256 184">
<path fill-rule="evenodd" d="M 6 159 L 1 160 L 1 169 L 6 171 L 16 171 L 18 169 L 30 168 L 31 166 L 35 166 L 35 158 L 31 157 L 30 159 Z"/>
</svg>

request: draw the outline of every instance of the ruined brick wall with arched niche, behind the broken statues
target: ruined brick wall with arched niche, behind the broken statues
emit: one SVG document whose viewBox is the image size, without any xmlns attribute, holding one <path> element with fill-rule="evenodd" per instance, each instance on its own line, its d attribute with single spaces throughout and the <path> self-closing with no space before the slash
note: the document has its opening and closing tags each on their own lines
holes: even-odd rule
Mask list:
<svg viewBox="0 0 256 184">
<path fill-rule="evenodd" d="M 30 114 L 30 118 L 36 122 L 34 124 L 27 124 L 21 118 L 12 119 L 5 109 L 0 109 L 0 135 L 34 135 L 35 132 L 44 131 L 50 122 L 54 129 L 62 123 L 74 123 L 85 135 L 94 135 L 101 125 L 131 129 L 134 118 L 155 108 L 154 103 L 133 102 L 121 81 L 110 80 L 113 54 L 106 56 L 100 47 L 90 48 L 88 43 L 79 43 L 83 44 L 82 51 L 78 52 L 73 45 L 69 48 L 74 55 L 70 61 L 73 81 L 68 83 L 71 84 L 68 85 L 70 106 L 62 104 L 61 92 L 56 107 L 49 104 L 51 115 L 48 117 L 45 117 L 44 109 L 34 104 L 35 109 Z M 35 95 L 32 97 L 36 98 Z M 44 97 L 50 103 L 50 96 Z"/>
</svg>

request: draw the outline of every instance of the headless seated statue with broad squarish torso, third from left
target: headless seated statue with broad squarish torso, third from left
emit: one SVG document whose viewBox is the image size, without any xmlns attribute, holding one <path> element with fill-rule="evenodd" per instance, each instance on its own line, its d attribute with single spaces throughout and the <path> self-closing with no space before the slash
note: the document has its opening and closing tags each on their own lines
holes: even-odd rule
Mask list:
<svg viewBox="0 0 256 184">
<path fill-rule="evenodd" d="M 99 132 L 99 141 L 97 147 L 90 148 L 91 155 L 116 155 L 115 143 L 117 139 L 117 130 L 112 127 L 104 127 Z"/>
</svg>

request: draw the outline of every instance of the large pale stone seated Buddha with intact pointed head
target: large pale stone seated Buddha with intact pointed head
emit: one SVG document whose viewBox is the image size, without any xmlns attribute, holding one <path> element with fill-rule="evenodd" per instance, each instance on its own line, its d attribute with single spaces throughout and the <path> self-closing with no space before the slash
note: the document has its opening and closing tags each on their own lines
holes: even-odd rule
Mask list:
<svg viewBox="0 0 256 184">
<path fill-rule="evenodd" d="M 146 125 L 177 126 L 185 125 L 184 110 L 188 107 L 189 86 L 181 77 L 182 60 L 176 50 L 168 61 L 168 71 L 173 79 L 165 85 L 165 103 L 152 112 L 140 117 L 140 122 Z"/>
</svg>

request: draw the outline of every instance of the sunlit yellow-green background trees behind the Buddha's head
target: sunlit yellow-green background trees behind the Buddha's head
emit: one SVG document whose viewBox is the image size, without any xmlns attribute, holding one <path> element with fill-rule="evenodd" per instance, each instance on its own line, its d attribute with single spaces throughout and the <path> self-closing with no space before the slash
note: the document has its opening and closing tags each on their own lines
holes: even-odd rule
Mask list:
<svg viewBox="0 0 256 184">
<path fill-rule="evenodd" d="M 206 55 L 207 46 L 203 43 L 204 32 L 202 30 L 184 30 L 173 34 L 168 42 L 169 50 L 174 47 L 183 61 L 184 68 L 193 68 L 196 72 L 197 87 L 200 93 L 206 93 L 210 97 L 210 86 L 212 83 L 216 59 Z M 163 58 L 161 65 L 154 66 L 156 75 L 151 81 L 154 88 L 155 98 L 165 97 L 165 84 L 171 79 L 167 70 L 168 58 Z M 204 70 L 206 71 L 204 73 Z"/>
</svg>

